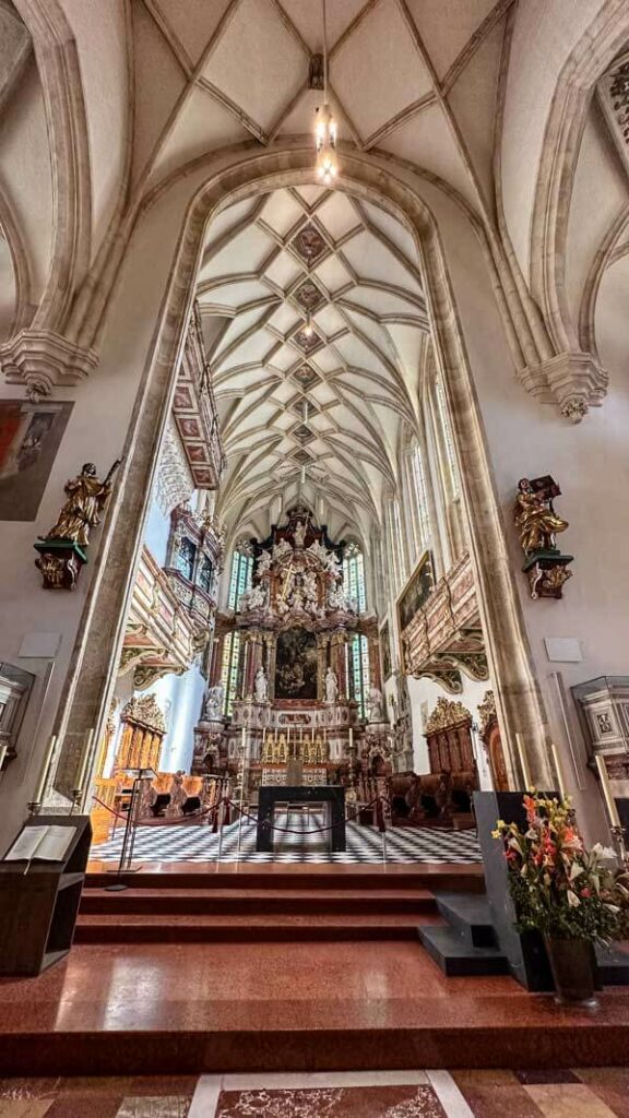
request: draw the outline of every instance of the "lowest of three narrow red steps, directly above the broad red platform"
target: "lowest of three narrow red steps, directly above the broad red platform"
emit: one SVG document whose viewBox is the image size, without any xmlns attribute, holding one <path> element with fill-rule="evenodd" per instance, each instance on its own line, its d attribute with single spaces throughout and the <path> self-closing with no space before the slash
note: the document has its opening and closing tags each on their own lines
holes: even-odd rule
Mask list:
<svg viewBox="0 0 629 1118">
<path fill-rule="evenodd" d="M 425 913 L 422 922 L 440 917 Z M 79 916 L 76 944 L 416 941 L 417 915 Z"/>
</svg>

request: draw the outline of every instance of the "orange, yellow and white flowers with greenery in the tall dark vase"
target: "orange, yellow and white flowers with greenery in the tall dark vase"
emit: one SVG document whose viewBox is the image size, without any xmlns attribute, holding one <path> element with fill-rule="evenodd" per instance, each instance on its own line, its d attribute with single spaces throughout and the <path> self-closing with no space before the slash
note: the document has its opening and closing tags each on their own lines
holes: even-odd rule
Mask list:
<svg viewBox="0 0 629 1118">
<path fill-rule="evenodd" d="M 570 797 L 546 799 L 532 789 L 524 807 L 526 831 L 498 819 L 492 832 L 505 844 L 517 930 L 603 944 L 627 936 L 629 880 L 605 865 L 613 851 L 585 849 Z"/>
</svg>

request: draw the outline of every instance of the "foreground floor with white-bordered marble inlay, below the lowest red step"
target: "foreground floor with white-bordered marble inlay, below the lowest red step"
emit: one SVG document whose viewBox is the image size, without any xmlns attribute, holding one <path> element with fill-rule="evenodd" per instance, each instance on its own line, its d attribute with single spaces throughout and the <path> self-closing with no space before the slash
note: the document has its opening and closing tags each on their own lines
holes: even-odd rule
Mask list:
<svg viewBox="0 0 629 1118">
<path fill-rule="evenodd" d="M 628 1118 L 629 1071 L 0 1080 L 1 1118 Z"/>
</svg>

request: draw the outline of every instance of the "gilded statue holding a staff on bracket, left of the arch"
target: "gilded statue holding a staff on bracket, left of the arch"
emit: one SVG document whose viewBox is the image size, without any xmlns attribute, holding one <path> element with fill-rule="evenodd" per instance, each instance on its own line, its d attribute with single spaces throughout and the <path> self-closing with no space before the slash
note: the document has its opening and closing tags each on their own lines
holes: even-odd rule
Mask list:
<svg viewBox="0 0 629 1118">
<path fill-rule="evenodd" d="M 44 589 L 73 590 L 81 569 L 87 562 L 86 548 L 90 532 L 101 521 L 112 491 L 112 479 L 122 458 L 116 458 L 109 474 L 101 481 L 96 466 L 86 462 L 81 473 L 66 482 L 66 502 L 56 524 L 40 536 L 34 544 L 39 552 L 35 566 L 41 571 Z"/>
</svg>

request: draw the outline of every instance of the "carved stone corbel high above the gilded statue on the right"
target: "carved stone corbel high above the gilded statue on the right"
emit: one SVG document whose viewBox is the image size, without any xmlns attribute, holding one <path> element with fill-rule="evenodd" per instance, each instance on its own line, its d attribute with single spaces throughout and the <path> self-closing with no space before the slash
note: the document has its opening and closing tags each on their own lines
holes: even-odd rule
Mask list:
<svg viewBox="0 0 629 1118">
<path fill-rule="evenodd" d="M 557 353 L 541 364 L 527 366 L 520 379 L 533 396 L 556 404 L 562 416 L 581 423 L 607 394 L 608 373 L 591 353 Z"/>
</svg>

